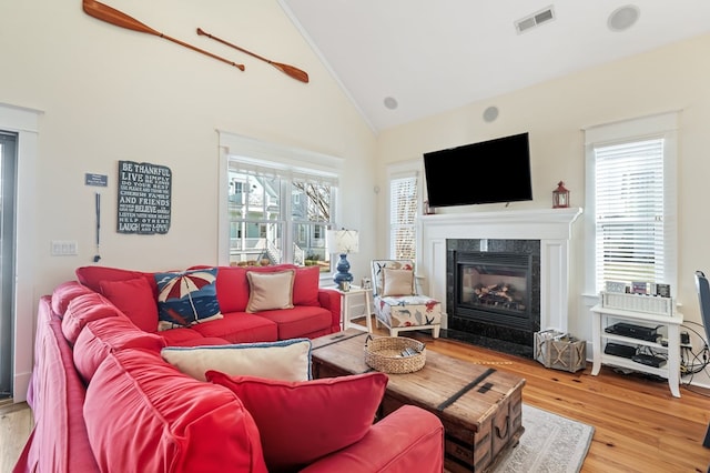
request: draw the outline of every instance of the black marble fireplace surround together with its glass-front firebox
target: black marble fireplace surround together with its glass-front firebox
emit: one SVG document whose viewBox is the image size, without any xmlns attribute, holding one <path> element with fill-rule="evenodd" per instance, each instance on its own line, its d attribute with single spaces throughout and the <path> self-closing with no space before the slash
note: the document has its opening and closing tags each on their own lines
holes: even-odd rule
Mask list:
<svg viewBox="0 0 710 473">
<path fill-rule="evenodd" d="M 478 281 L 479 272 L 495 275 Z M 442 336 L 532 358 L 540 330 L 540 241 L 446 240 L 446 306 Z"/>
</svg>

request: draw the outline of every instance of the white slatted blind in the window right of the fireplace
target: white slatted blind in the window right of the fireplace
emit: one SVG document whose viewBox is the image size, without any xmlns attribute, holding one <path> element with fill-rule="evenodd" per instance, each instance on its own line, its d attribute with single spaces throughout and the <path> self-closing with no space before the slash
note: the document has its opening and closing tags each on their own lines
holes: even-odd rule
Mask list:
<svg viewBox="0 0 710 473">
<path fill-rule="evenodd" d="M 594 152 L 598 289 L 606 281 L 666 282 L 663 139 Z"/>
</svg>

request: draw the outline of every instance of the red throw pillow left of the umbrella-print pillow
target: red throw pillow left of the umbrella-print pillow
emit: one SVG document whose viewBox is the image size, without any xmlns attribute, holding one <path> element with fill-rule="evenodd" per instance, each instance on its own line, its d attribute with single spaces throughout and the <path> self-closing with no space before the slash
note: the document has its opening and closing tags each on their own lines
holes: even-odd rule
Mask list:
<svg viewBox="0 0 710 473">
<path fill-rule="evenodd" d="M 101 293 L 144 332 L 158 332 L 158 303 L 145 278 L 101 281 Z"/>
</svg>

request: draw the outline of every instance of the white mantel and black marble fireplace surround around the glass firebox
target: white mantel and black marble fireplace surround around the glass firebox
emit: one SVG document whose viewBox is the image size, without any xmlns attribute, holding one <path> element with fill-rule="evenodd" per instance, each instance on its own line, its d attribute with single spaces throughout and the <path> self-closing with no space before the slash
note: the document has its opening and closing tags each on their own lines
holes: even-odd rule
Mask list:
<svg viewBox="0 0 710 473">
<path fill-rule="evenodd" d="M 569 293 L 572 224 L 580 214 L 581 209 L 566 208 L 420 217 L 417 278 L 423 291 L 442 301 L 442 309 L 447 314 L 442 319 L 442 336 L 532 356 L 531 333 L 547 329 L 567 332 L 570 313 L 574 313 Z M 503 243 L 498 241 L 508 243 L 499 248 Z M 516 313 L 497 313 L 500 325 L 495 328 L 486 320 L 475 321 L 462 315 L 460 309 L 454 310 L 455 253 L 498 252 L 531 254 L 528 322 L 511 320 L 518 316 Z"/>
</svg>

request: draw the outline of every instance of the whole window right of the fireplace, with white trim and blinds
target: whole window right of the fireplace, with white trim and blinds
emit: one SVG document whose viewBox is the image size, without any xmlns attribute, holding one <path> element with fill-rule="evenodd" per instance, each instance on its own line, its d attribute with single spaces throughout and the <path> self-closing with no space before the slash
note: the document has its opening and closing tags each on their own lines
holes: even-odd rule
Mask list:
<svg viewBox="0 0 710 473">
<path fill-rule="evenodd" d="M 676 289 L 676 121 L 673 113 L 587 130 L 595 292 L 607 281 Z"/>
</svg>

